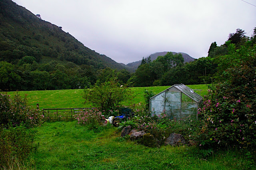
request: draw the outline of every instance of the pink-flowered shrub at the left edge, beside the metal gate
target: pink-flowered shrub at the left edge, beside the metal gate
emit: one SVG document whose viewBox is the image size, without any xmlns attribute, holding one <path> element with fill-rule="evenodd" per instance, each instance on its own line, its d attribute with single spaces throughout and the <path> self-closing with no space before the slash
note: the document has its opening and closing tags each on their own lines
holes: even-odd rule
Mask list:
<svg viewBox="0 0 256 170">
<path fill-rule="evenodd" d="M 39 110 L 28 107 L 26 98 L 22 99 L 18 93 L 14 98 L 0 94 L 0 124 L 5 127 L 22 123 L 26 128 L 31 128 L 40 125 L 43 117 Z"/>
</svg>

